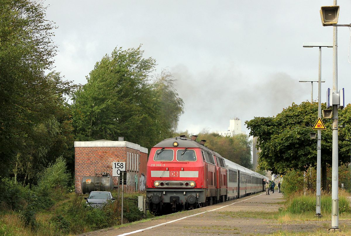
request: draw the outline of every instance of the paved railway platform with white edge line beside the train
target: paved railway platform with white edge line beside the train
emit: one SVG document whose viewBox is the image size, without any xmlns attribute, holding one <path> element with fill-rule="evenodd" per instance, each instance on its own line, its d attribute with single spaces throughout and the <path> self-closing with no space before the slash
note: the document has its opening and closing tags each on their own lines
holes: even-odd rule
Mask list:
<svg viewBox="0 0 351 236">
<path fill-rule="evenodd" d="M 212 236 L 212 235 L 265 235 L 277 231 L 312 232 L 325 226 L 320 221 L 284 222 L 273 217 L 282 207 L 283 195 L 265 192 L 191 211 L 155 217 L 134 222 L 120 228 L 89 232 L 91 236 Z M 340 225 L 343 222 L 340 221 Z M 344 222 L 350 223 L 350 222 Z"/>
</svg>

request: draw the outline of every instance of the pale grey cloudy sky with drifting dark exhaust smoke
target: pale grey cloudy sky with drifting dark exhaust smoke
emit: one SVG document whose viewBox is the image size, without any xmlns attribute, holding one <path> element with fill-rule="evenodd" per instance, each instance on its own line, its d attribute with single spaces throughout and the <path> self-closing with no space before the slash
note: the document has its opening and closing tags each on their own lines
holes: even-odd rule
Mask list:
<svg viewBox="0 0 351 236">
<path fill-rule="evenodd" d="M 55 70 L 85 84 L 94 64 L 113 49 L 143 44 L 145 57 L 168 70 L 186 111 L 178 130 L 226 130 L 229 119 L 243 122 L 274 116 L 292 102 L 310 100 L 318 78 L 318 48 L 303 42 L 332 42 L 323 27 L 320 1 L 45 1 L 56 22 Z M 350 1 L 338 1 L 339 24 L 351 23 Z M 350 31 L 338 28 L 338 89 L 351 101 Z M 351 60 L 351 59 L 350 59 Z M 322 102 L 332 88 L 332 48 L 322 48 Z M 318 98 L 314 83 L 313 98 Z"/>
</svg>

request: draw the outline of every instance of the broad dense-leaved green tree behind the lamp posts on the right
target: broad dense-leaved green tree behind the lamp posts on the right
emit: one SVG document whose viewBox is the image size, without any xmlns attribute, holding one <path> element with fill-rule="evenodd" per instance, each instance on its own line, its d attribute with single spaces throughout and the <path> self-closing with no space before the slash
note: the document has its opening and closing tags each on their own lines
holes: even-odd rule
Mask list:
<svg viewBox="0 0 351 236">
<path fill-rule="evenodd" d="M 350 147 L 350 105 L 339 112 L 339 161 L 349 160 L 346 155 L 347 144 Z M 325 109 L 325 104 L 322 104 Z M 317 121 L 318 104 L 303 102 L 293 103 L 276 117 L 255 117 L 245 124 L 250 135 L 257 137 L 257 146 L 261 149 L 258 163 L 261 169 L 273 173 L 285 173 L 288 170 L 306 170 L 316 166 L 316 139 L 310 139 L 310 132 Z M 323 119 L 327 130 L 322 131 L 321 161 L 323 188 L 326 189 L 326 165 L 331 164 L 332 155 L 332 119 Z"/>
</svg>

